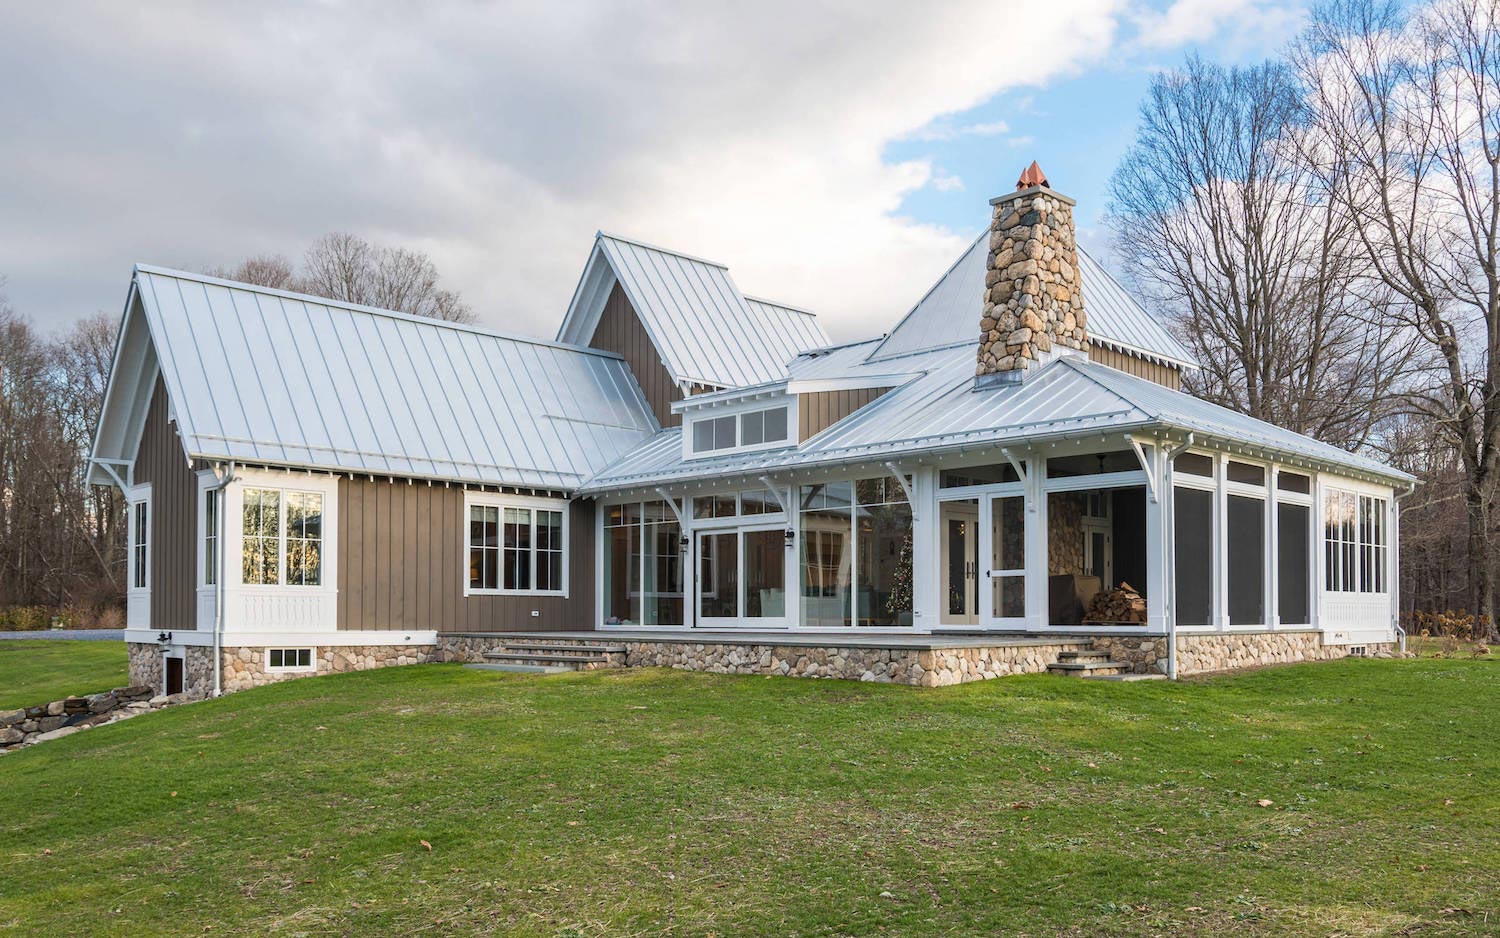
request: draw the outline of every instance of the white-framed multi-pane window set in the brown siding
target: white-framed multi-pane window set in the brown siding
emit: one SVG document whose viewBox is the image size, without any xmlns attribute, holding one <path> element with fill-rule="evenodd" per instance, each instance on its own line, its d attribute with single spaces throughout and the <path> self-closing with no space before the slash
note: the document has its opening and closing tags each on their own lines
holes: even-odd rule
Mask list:
<svg viewBox="0 0 1500 938">
<path fill-rule="evenodd" d="M 561 509 L 470 504 L 471 591 L 562 593 Z"/>
</svg>

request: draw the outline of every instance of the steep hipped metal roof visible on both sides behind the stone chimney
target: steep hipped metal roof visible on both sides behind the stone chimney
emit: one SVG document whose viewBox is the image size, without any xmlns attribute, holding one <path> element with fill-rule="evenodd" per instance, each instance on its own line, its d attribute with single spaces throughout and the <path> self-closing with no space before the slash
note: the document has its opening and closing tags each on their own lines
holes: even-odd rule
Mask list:
<svg viewBox="0 0 1500 938">
<path fill-rule="evenodd" d="M 978 344 L 988 260 L 990 233 L 984 231 L 933 284 L 927 296 L 896 324 L 870 359 L 960 342 Z M 1194 365 L 1192 353 L 1166 326 L 1142 309 L 1140 303 L 1083 249 L 1083 245 L 1078 245 L 1078 278 L 1090 339 L 1146 357 Z"/>
</svg>

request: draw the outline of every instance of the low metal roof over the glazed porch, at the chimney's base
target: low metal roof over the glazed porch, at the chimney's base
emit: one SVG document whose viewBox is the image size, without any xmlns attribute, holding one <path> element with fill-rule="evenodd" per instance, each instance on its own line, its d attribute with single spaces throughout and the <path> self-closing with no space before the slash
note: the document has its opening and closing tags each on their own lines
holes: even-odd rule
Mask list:
<svg viewBox="0 0 1500 938">
<path fill-rule="evenodd" d="M 974 350 L 969 347 L 906 356 L 903 366 L 922 374 L 798 447 L 684 459 L 681 429 L 666 429 L 591 479 L 582 491 L 604 492 L 694 479 L 753 479 L 786 468 L 873 462 L 986 444 L 1018 446 L 1034 440 L 1126 429 L 1196 432 L 1204 443 L 1220 440 L 1383 479 L 1412 479 L 1374 459 L 1083 356 L 1054 359 L 1022 384 L 982 390 L 974 386 Z"/>
</svg>

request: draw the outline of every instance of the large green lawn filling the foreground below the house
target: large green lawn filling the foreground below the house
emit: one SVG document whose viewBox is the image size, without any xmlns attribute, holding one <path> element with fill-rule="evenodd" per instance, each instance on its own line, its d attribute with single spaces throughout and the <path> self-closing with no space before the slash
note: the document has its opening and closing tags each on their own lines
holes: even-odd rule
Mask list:
<svg viewBox="0 0 1500 938">
<path fill-rule="evenodd" d="M 0 930 L 1496 933 L 1497 710 L 1486 660 L 296 680 L 0 756 Z"/>
</svg>

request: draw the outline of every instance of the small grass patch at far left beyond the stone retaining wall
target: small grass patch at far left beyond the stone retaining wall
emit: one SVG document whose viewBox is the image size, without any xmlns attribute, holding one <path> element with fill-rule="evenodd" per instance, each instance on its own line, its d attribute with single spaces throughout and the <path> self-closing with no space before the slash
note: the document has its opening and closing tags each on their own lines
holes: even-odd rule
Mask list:
<svg viewBox="0 0 1500 938">
<path fill-rule="evenodd" d="M 124 642 L 0 641 L 0 710 L 126 683 Z"/>
</svg>

